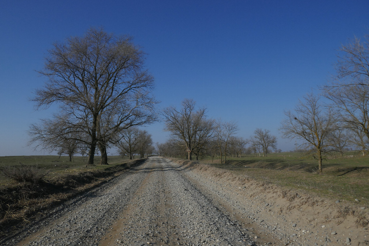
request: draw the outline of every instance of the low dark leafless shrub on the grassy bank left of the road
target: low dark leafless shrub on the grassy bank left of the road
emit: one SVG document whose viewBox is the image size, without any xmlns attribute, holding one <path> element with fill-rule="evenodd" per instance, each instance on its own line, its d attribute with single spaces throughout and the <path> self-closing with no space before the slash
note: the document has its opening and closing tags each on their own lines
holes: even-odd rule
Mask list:
<svg viewBox="0 0 369 246">
<path fill-rule="evenodd" d="M 18 182 L 38 184 L 49 172 L 37 166 L 20 163 L 20 166 L 6 166 L 1 169 L 1 175 Z"/>
</svg>

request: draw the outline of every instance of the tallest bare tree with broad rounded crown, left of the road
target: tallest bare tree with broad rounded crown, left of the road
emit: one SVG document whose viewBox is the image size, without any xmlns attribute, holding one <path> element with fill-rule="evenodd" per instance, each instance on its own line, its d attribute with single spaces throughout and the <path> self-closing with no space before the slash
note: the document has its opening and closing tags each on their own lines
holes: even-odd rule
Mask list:
<svg viewBox="0 0 369 246">
<path fill-rule="evenodd" d="M 85 121 L 89 135 L 89 158 L 93 164 L 96 146 L 106 153 L 107 139 L 102 128 L 125 128 L 150 123 L 156 101 L 151 96 L 154 79 L 145 70 L 144 52 L 127 36 L 107 34 L 90 28 L 83 37 L 56 42 L 45 58 L 41 75 L 48 78 L 36 90 L 37 108 L 53 103 L 63 112 Z M 119 108 L 119 111 L 114 108 Z M 106 111 L 114 111 L 111 122 L 104 122 Z M 121 112 L 120 112 L 121 111 Z"/>
</svg>

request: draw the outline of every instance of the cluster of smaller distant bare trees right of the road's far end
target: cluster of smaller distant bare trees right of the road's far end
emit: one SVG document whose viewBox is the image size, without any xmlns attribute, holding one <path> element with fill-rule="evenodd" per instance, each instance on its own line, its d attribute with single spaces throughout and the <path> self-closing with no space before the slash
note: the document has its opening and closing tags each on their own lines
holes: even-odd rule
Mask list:
<svg viewBox="0 0 369 246">
<path fill-rule="evenodd" d="M 243 139 L 236 135 L 238 126 L 235 122 L 207 118 L 206 108 L 196 109 L 196 103 L 192 99 L 184 99 L 180 109 L 165 108 L 162 116 L 166 124 L 165 130 L 171 133 L 171 138 L 158 144 L 160 155 L 187 155 L 189 160 L 192 160 L 193 154 L 196 160 L 210 155 L 213 160 L 216 156 L 220 163 L 225 163 L 227 156 L 241 156 L 248 143 L 255 154 L 262 152 L 263 156 L 267 156 L 271 149 L 276 149 L 277 139 L 270 131 L 256 129 L 254 136 Z"/>
</svg>

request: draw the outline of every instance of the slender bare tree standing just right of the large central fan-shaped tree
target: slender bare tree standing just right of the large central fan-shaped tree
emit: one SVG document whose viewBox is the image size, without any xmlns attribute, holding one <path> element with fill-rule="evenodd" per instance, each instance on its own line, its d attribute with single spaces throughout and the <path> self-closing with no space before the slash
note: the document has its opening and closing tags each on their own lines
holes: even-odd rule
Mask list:
<svg viewBox="0 0 369 246">
<path fill-rule="evenodd" d="M 227 161 L 227 150 L 230 138 L 238 131 L 237 124 L 235 122 L 223 122 L 220 119 L 215 122 L 215 141 L 220 153 L 220 163 L 222 164 L 224 155 L 224 164 Z"/>
</svg>

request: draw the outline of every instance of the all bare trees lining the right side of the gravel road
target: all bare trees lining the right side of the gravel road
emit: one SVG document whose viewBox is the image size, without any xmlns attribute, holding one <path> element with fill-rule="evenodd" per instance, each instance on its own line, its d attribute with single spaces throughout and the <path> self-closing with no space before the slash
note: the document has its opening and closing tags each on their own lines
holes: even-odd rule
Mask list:
<svg viewBox="0 0 369 246">
<path fill-rule="evenodd" d="M 299 139 L 296 149 L 318 160 L 318 173 L 323 173 L 322 161 L 329 153 L 342 155 L 347 147 L 360 149 L 363 155 L 369 151 L 369 35 L 365 41 L 355 38 L 342 45 L 336 69 L 337 75 L 320 88 L 320 94 L 309 93 L 294 110 L 285 111 L 280 127 L 284 138 Z M 158 145 L 159 153 L 183 156 L 186 151 L 190 160 L 192 154 L 196 159 L 206 154 L 225 163 L 227 155 L 238 153 L 247 143 L 255 155 L 276 150 L 276 137 L 268 130 L 256 129 L 244 140 L 235 136 L 234 122 L 207 119 L 205 114 L 206 108 L 195 110 L 189 99 L 180 110 L 166 108 L 163 117 L 172 139 Z"/>
</svg>

